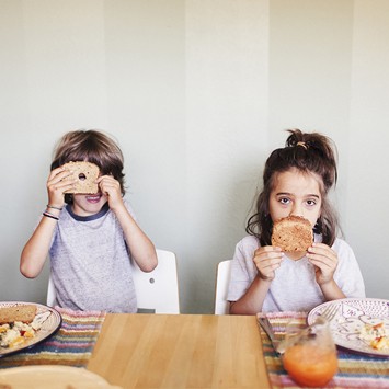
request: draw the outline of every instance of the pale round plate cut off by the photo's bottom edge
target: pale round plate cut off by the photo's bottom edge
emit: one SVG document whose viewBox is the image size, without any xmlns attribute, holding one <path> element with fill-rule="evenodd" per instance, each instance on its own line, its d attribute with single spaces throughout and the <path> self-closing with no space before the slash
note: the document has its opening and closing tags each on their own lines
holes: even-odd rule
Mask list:
<svg viewBox="0 0 389 389">
<path fill-rule="evenodd" d="M 105 379 L 82 367 L 41 365 L 22 366 L 0 370 L 0 387 L 9 385 L 12 389 L 113 389 Z"/>
</svg>

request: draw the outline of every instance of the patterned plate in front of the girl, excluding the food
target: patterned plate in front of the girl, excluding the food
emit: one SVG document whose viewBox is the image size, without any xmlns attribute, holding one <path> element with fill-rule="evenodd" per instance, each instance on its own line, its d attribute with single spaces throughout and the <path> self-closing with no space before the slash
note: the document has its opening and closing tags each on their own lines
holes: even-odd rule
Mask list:
<svg viewBox="0 0 389 389">
<path fill-rule="evenodd" d="M 330 323 L 335 344 L 358 353 L 389 357 L 389 350 L 375 350 L 368 342 L 359 339 L 361 329 L 365 324 L 384 322 L 389 331 L 389 300 L 377 298 L 344 298 L 324 302 L 308 313 L 308 324 L 331 305 L 339 306 L 336 316 Z"/>
</svg>

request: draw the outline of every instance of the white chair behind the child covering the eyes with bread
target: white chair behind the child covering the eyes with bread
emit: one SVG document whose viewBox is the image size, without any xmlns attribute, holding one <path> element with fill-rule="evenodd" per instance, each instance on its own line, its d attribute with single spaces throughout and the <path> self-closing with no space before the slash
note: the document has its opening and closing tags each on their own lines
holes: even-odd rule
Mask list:
<svg viewBox="0 0 389 389">
<path fill-rule="evenodd" d="M 175 254 L 171 251 L 157 250 L 158 266 L 150 273 L 142 272 L 131 262 L 135 290 L 140 311 L 155 313 L 180 313 L 179 279 Z M 56 291 L 48 279 L 47 305 L 56 304 Z"/>
</svg>

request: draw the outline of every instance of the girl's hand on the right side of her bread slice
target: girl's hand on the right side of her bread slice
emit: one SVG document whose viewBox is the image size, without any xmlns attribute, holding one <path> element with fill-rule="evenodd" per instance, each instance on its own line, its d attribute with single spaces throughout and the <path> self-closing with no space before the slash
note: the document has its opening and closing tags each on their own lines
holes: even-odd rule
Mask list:
<svg viewBox="0 0 389 389">
<path fill-rule="evenodd" d="M 308 249 L 307 258 L 314 265 L 316 281 L 324 285 L 333 281 L 337 267 L 337 254 L 324 243 L 313 243 Z"/>
</svg>

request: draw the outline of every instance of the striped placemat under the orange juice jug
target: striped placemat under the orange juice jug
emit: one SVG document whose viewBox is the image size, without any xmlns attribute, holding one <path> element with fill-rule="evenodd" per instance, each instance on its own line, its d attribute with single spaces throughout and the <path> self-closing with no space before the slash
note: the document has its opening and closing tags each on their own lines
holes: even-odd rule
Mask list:
<svg viewBox="0 0 389 389">
<path fill-rule="evenodd" d="M 277 339 L 285 335 L 287 323 L 293 319 L 297 325 L 305 325 L 307 313 L 279 312 L 267 313 Z M 261 325 L 263 354 L 268 379 L 273 389 L 300 388 L 285 371 L 282 359 L 275 353 L 272 343 Z M 328 388 L 389 388 L 389 358 L 361 355 L 343 350 L 337 351 L 339 373 L 329 382 Z"/>
</svg>

